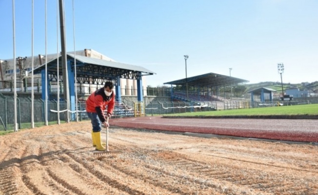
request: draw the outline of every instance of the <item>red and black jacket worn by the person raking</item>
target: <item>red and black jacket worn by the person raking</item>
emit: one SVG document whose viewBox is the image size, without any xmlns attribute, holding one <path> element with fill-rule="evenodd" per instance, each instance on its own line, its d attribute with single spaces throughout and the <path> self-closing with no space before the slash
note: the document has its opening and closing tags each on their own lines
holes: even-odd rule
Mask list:
<svg viewBox="0 0 318 195">
<path fill-rule="evenodd" d="M 103 123 L 106 121 L 104 116 L 104 110 L 107 107 L 107 113 L 113 114 L 115 107 L 115 93 L 114 91 L 110 96 L 105 95 L 104 88 L 100 88 L 94 93 L 92 93 L 86 100 L 86 112 L 97 113 L 99 120 Z"/>
</svg>

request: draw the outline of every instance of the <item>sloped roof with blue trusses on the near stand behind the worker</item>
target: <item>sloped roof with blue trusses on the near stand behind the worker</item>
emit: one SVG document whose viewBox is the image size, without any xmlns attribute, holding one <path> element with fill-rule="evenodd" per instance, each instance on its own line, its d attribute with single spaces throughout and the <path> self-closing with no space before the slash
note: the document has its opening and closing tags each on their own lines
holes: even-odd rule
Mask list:
<svg viewBox="0 0 318 195">
<path fill-rule="evenodd" d="M 76 58 L 76 75 L 79 83 L 103 84 L 106 80 L 117 82 L 117 78 L 138 79 L 144 75 L 156 74 L 146 68 L 124 64 L 103 59 L 94 59 L 85 56 L 74 56 L 67 54 L 67 60 L 71 61 L 72 71 L 74 71 L 74 58 Z M 47 72 L 50 81 L 57 81 L 57 58 L 47 62 Z M 45 69 L 45 64 L 34 69 L 34 74 L 41 73 Z M 59 76 L 62 80 L 62 63 L 59 57 Z"/>
</svg>

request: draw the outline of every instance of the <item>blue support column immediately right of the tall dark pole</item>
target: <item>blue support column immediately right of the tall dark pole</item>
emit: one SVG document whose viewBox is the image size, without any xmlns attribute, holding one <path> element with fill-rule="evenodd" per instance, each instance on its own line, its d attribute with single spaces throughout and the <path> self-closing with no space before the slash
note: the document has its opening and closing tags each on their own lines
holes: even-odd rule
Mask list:
<svg viewBox="0 0 318 195">
<path fill-rule="evenodd" d="M 75 78 L 74 78 L 74 72 L 71 68 L 71 62 L 70 60 L 67 60 L 67 76 L 68 76 L 68 89 L 70 93 L 70 110 L 75 111 Z M 71 120 L 76 120 L 76 113 L 71 114 Z"/>
</svg>

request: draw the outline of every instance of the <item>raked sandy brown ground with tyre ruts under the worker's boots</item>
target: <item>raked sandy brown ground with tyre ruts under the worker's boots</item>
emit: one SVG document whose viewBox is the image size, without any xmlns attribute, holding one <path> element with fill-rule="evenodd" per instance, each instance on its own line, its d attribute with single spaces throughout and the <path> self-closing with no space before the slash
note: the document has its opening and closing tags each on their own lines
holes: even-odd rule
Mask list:
<svg viewBox="0 0 318 195">
<path fill-rule="evenodd" d="M 318 195 L 318 146 L 110 128 L 90 121 L 0 136 L 0 195 Z M 103 132 L 102 137 L 105 137 Z"/>
</svg>

